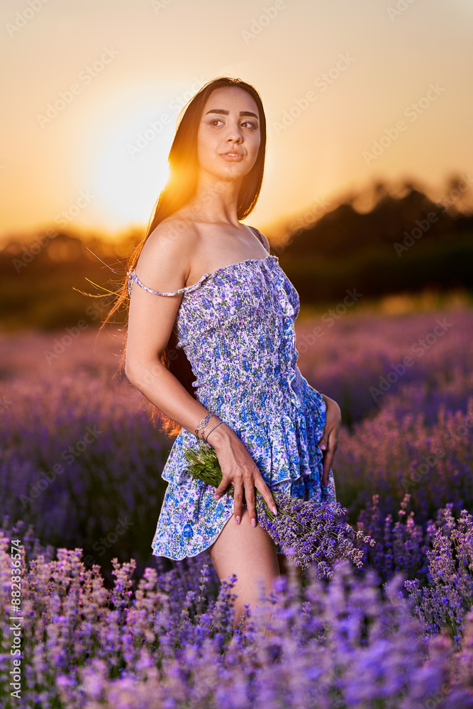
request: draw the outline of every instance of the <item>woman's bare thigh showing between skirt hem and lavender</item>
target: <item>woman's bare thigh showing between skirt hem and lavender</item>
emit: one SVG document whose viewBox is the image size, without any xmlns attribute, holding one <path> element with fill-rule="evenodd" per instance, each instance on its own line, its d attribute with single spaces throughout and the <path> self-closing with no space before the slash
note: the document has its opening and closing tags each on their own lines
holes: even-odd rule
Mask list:
<svg viewBox="0 0 473 709">
<path fill-rule="evenodd" d="M 250 523 L 250 515 L 244 507 L 239 525 L 232 515 L 218 535 L 213 545 L 208 548 L 208 554 L 215 566 L 218 578 L 227 580 L 235 574 L 237 582 L 232 593 L 235 601 L 235 620 L 233 630 L 238 625 L 244 605 L 250 603 L 250 609 L 255 608 L 259 601 L 258 582 L 265 585 L 266 595 L 272 590 L 274 580 L 279 578 L 278 555 L 276 547 L 269 534 L 260 527 Z"/>
</svg>

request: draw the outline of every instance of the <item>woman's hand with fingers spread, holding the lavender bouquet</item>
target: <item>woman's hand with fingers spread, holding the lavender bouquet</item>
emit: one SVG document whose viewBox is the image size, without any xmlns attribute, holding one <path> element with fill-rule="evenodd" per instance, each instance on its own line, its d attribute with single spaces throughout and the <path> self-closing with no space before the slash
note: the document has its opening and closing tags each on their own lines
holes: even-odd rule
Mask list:
<svg viewBox="0 0 473 709">
<path fill-rule="evenodd" d="M 272 493 L 255 461 L 235 432 L 231 431 L 225 424 L 219 426 L 215 432 L 217 431 L 219 435 L 213 438 L 212 447 L 215 448 L 221 467 L 222 481 L 214 496 L 218 500 L 228 486 L 230 484 L 233 485 L 235 520 L 239 525 L 242 515 L 243 491 L 245 491 L 246 506 L 250 513 L 251 524 L 256 527 L 255 487 L 262 494 L 269 509 L 274 514 L 277 514 Z"/>
</svg>

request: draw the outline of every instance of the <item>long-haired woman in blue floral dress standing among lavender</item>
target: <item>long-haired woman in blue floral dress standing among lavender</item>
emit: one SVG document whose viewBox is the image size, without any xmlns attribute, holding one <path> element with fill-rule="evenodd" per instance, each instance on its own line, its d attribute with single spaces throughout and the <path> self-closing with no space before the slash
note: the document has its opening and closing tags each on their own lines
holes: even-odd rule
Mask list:
<svg viewBox="0 0 473 709">
<path fill-rule="evenodd" d="M 255 489 L 270 508 L 272 489 L 335 500 L 341 420 L 296 365 L 294 286 L 267 238 L 240 223 L 260 194 L 265 144 L 257 91 L 240 79 L 208 82 L 179 123 L 169 181 L 126 284 L 126 376 L 178 433 L 152 551 L 183 559 L 207 549 L 219 579 L 235 574 L 234 627 L 260 582 L 269 592 L 284 569 L 257 523 Z M 183 443 L 197 446 L 196 437 L 216 450 L 216 491 L 187 472 Z"/>
</svg>

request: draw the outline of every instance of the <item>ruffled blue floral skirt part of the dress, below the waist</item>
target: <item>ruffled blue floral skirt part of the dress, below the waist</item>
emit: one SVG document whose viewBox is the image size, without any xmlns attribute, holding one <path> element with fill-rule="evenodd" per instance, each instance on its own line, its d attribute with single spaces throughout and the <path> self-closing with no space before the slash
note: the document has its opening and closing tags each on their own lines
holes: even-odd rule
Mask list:
<svg viewBox="0 0 473 709">
<path fill-rule="evenodd" d="M 301 380 L 306 382 L 304 377 Z M 316 503 L 335 500 L 335 481 L 329 469 L 323 486 L 323 453 L 318 442 L 325 425 L 325 401 L 307 382 L 304 405 L 294 416 L 282 415 L 269 421 L 247 420 L 225 423 L 245 444 L 262 478 L 271 491 L 286 493 Z M 223 420 L 224 418 L 221 417 Z M 177 436 L 162 471 L 169 482 L 162 503 L 152 552 L 157 556 L 184 559 L 208 549 L 233 516 L 233 497 L 225 493 L 213 498 L 214 488 L 189 474 L 183 443 L 196 448 L 194 435 L 183 429 Z M 176 530 L 181 529 L 181 533 Z M 277 547 L 278 554 L 282 549 Z"/>
</svg>

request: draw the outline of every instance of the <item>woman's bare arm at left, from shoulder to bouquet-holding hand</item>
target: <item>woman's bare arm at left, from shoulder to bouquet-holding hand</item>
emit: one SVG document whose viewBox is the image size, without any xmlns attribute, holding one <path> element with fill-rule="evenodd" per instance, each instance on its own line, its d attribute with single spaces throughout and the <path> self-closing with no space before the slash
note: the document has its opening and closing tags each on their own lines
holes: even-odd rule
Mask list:
<svg viewBox="0 0 473 709">
<path fill-rule="evenodd" d="M 169 292 L 184 287 L 190 271 L 196 235 L 191 228 L 182 233 L 172 220 L 161 223 L 150 234 L 140 252 L 135 272 L 138 279 L 155 291 Z M 194 434 L 206 417 L 206 409 L 189 394 L 180 381 L 160 362 L 172 332 L 182 293 L 157 296 L 133 281 L 128 313 L 125 374 L 148 401 L 178 425 Z M 218 418 L 207 424 L 210 431 Z M 215 448 L 223 479 L 217 492 L 234 487 L 235 518 L 241 519 L 243 491 L 250 519 L 256 526 L 255 486 L 270 508 L 274 498 L 240 438 L 225 423 L 211 432 L 208 442 Z"/>
</svg>

